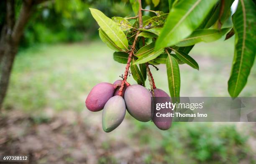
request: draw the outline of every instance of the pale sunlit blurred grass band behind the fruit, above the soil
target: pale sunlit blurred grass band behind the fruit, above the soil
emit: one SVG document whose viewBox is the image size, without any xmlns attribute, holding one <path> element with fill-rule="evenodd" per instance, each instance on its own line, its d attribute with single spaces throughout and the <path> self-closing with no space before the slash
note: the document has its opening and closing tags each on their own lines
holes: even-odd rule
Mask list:
<svg viewBox="0 0 256 164">
<path fill-rule="evenodd" d="M 102 81 L 120 79 L 125 65 L 116 63 L 113 51 L 100 41 L 33 47 L 15 59 L 5 108 L 37 111 L 84 109 L 84 98 Z M 229 96 L 227 82 L 233 60 L 233 39 L 196 45 L 191 56 L 200 71 L 180 65 L 181 96 Z M 156 86 L 168 92 L 166 68 L 151 68 Z M 129 82 L 135 83 L 130 77 Z M 256 66 L 240 96 L 256 96 Z M 148 86 L 148 81 L 147 88 Z"/>
</svg>

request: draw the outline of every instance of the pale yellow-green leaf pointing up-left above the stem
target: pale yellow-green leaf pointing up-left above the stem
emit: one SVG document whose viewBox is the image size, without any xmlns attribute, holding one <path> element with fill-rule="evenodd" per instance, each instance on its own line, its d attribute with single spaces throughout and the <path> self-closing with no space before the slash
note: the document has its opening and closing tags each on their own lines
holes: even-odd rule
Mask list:
<svg viewBox="0 0 256 164">
<path fill-rule="evenodd" d="M 128 40 L 119 26 L 100 10 L 90 8 L 93 18 L 108 37 L 122 50 L 128 50 Z"/>
</svg>

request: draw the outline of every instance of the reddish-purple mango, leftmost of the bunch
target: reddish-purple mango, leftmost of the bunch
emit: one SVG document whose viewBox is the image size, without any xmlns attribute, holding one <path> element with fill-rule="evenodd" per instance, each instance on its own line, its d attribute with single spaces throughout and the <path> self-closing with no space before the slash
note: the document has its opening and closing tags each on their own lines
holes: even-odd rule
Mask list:
<svg viewBox="0 0 256 164">
<path fill-rule="evenodd" d="M 99 83 L 88 94 L 85 105 L 90 111 L 100 111 L 113 96 L 115 87 L 111 83 Z"/>
</svg>

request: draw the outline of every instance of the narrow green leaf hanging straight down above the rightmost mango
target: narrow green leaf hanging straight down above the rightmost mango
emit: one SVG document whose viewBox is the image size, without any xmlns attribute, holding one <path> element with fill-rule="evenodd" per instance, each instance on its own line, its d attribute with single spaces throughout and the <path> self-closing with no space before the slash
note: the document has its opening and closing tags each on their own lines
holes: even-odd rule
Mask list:
<svg viewBox="0 0 256 164">
<path fill-rule="evenodd" d="M 166 70 L 170 95 L 172 102 L 179 102 L 179 91 L 180 91 L 180 75 L 179 75 L 179 64 L 176 59 L 168 55 L 166 60 Z"/>
</svg>

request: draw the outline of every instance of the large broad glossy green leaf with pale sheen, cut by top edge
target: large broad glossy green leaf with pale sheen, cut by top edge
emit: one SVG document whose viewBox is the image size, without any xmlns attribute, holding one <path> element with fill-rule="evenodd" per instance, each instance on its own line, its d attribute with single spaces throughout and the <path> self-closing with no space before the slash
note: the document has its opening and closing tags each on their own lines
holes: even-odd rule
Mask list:
<svg viewBox="0 0 256 164">
<path fill-rule="evenodd" d="M 170 11 L 155 51 L 177 44 L 199 27 L 218 0 L 181 0 Z"/>
</svg>

